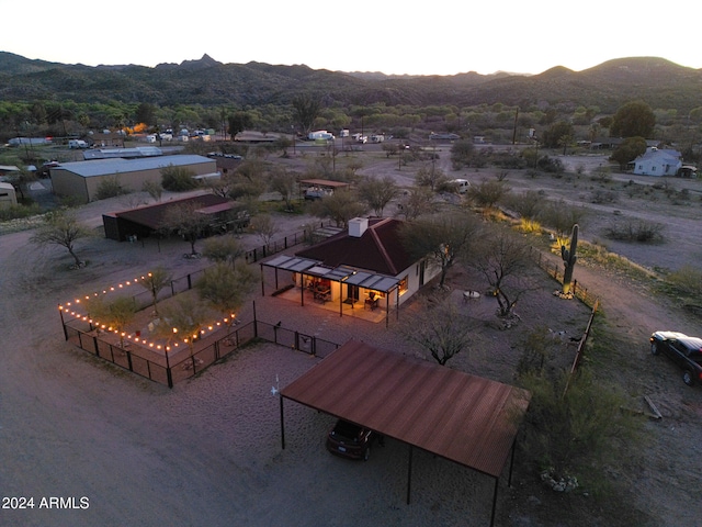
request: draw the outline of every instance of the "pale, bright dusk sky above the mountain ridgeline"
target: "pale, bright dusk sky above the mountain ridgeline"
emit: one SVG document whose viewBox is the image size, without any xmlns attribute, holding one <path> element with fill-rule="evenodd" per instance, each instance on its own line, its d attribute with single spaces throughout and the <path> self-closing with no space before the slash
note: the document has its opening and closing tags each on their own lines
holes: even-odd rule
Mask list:
<svg viewBox="0 0 702 527">
<path fill-rule="evenodd" d="M 624 57 L 702 68 L 682 0 L 492 2 L 0 0 L 0 51 L 64 64 L 220 63 L 454 75 L 576 71 Z"/>
</svg>

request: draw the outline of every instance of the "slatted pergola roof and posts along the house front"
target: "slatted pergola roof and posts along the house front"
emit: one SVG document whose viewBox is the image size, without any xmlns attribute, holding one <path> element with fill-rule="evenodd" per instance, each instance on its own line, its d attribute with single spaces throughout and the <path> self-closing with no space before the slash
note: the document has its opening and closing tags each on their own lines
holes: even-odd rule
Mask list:
<svg viewBox="0 0 702 527">
<path fill-rule="evenodd" d="M 389 295 L 395 293 L 396 316 L 399 316 L 399 280 L 395 277 L 353 269 L 349 266 L 330 268 L 319 260 L 301 258 L 297 256 L 278 256 L 271 260 L 261 262 L 261 294 L 265 295 L 263 281 L 263 267 L 275 270 L 275 291 L 281 290 L 279 271 L 294 273 L 295 284 L 299 287 L 299 302 L 305 305 L 305 290 L 308 280 L 328 280 L 339 284 L 339 316 L 343 316 L 344 293 L 342 288 L 358 288 L 358 290 L 376 291 L 385 296 L 385 324 L 389 323 L 390 303 Z M 347 291 L 348 293 L 348 291 Z M 348 296 L 347 296 L 348 298 Z"/>
</svg>

